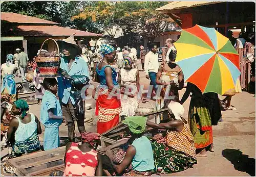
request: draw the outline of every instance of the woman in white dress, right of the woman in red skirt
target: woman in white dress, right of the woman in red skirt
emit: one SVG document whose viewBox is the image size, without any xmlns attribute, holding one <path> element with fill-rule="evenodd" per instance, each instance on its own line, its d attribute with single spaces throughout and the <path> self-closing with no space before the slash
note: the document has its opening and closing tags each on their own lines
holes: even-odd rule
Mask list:
<svg viewBox="0 0 256 177">
<path fill-rule="evenodd" d="M 140 87 L 139 70 L 133 68 L 133 61 L 131 57 L 124 57 L 124 68 L 121 68 L 118 73 L 118 83 L 121 89 L 126 86 L 135 86 L 137 90 Z M 121 98 L 122 112 L 121 116 L 134 116 L 138 107 L 138 98 L 135 95 L 133 98 L 122 96 Z"/>
</svg>

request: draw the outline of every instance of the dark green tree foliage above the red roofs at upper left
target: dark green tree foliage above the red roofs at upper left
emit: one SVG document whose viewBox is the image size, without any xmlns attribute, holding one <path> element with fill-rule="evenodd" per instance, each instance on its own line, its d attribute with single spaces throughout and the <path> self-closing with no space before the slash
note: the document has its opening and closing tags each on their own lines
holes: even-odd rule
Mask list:
<svg viewBox="0 0 256 177">
<path fill-rule="evenodd" d="M 83 7 L 91 5 L 92 2 L 89 1 L 6 1 L 1 4 L 1 11 L 54 21 L 62 27 L 101 33 L 91 19 L 71 19 L 72 16 L 78 15 Z"/>
</svg>

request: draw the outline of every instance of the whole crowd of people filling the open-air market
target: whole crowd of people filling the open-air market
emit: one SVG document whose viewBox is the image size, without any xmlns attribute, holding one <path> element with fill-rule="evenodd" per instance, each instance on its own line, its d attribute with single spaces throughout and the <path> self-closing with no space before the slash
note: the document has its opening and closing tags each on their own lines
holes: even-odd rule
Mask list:
<svg viewBox="0 0 256 177">
<path fill-rule="evenodd" d="M 240 42 L 243 43 L 243 40 L 237 42 L 235 47 L 240 47 Z M 17 75 L 21 74 L 25 79 L 24 72 L 29 65 L 24 48 L 16 49 L 17 54 L 14 56 L 9 54 L 5 65 L 2 65 L 5 82 L 1 97 L 1 120 L 4 120 L 1 124 L 1 140 L 2 134 L 6 133 L 13 157 L 59 147 L 61 123 L 67 125 L 70 141 L 66 146 L 65 171 L 58 173 L 65 176 L 174 173 L 193 167 L 197 164 L 197 157 L 207 156 L 207 150 L 214 152 L 212 125 L 222 121 L 218 94 L 203 94 L 196 85 L 187 83 L 184 95 L 179 97 L 178 91 L 184 86 L 184 76 L 182 69 L 175 63 L 177 50 L 174 40 L 165 41 L 167 53 L 160 66 L 158 46 L 150 44 L 149 52 L 140 46 L 142 70 L 153 87 L 151 99 L 156 100 L 156 110 L 168 109 L 160 116 L 159 123 L 147 121 L 155 115 L 148 118 L 136 115 L 140 99 L 137 97 L 140 71 L 136 48 L 125 46 L 121 50 L 120 47 L 101 44 L 95 50 L 77 45 L 73 36 L 58 40 L 57 43 L 62 53 L 59 77 L 40 80 L 36 62 L 33 60 L 31 63 L 36 76 L 33 83 L 37 95 L 41 95 L 38 97 L 41 99 L 40 118 L 28 113 L 29 106 L 25 100 L 11 101 L 11 95 L 15 94 L 15 70 L 19 68 L 20 73 L 17 72 Z M 115 62 L 117 68 L 113 67 Z M 99 83 L 93 90 L 95 115 L 98 116 L 97 133 L 86 132 L 83 122 L 86 113 L 81 95 L 84 86 L 90 85 L 90 78 Z M 127 91 L 127 87 L 131 88 Z M 158 96 L 154 96 L 158 93 Z M 182 117 L 185 111 L 182 105 L 190 93 L 186 121 Z M 88 89 L 84 94 L 88 95 Z M 229 100 L 229 109 L 231 97 L 226 99 Z M 120 120 L 127 124 L 129 138 L 97 150 L 100 135 L 115 127 Z M 81 134 L 81 144 L 76 143 L 75 122 Z M 40 123 L 45 127 L 43 147 L 38 139 L 42 132 Z M 150 140 L 143 134 L 146 125 L 165 132 L 161 138 Z M 111 149 L 118 147 L 117 153 L 113 154 Z"/>
</svg>

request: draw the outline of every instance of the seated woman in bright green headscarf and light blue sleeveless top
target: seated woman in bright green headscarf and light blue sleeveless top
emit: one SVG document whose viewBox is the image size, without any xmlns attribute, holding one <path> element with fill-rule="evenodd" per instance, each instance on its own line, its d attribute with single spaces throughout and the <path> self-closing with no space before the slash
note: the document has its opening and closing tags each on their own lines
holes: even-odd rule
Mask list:
<svg viewBox="0 0 256 177">
<path fill-rule="evenodd" d="M 122 174 L 124 170 L 132 164 L 132 170 L 124 173 L 124 176 L 148 176 L 154 169 L 153 150 L 150 140 L 143 136 L 142 133 L 146 127 L 146 117 L 133 116 L 126 117 L 122 122 L 128 125 L 130 130 L 132 145 L 127 148 L 125 157 L 121 164 L 115 165 L 113 154 L 110 150 L 106 155 L 110 158 L 111 164 L 116 173 Z"/>
</svg>

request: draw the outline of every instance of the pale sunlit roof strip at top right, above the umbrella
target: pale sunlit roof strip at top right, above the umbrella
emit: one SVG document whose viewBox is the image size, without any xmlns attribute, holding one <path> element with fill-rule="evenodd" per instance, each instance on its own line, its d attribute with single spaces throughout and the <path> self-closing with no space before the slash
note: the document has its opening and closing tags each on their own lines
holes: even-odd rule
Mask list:
<svg viewBox="0 0 256 177">
<path fill-rule="evenodd" d="M 171 2 L 169 4 L 166 4 L 156 10 L 162 11 L 162 10 L 183 9 L 183 8 L 203 6 L 203 5 L 216 4 L 216 3 L 222 3 L 222 2 L 217 2 L 217 1 L 175 1 L 175 2 Z"/>
</svg>

